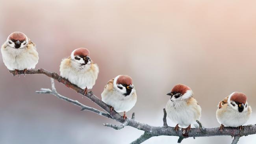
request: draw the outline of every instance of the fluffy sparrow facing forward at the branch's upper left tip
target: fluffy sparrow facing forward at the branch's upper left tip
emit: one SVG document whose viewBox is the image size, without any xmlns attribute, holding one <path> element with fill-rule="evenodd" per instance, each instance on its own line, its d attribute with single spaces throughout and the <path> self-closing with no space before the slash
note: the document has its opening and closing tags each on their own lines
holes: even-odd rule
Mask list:
<svg viewBox="0 0 256 144">
<path fill-rule="evenodd" d="M 24 70 L 35 68 L 38 63 L 38 53 L 35 44 L 22 32 L 11 33 L 1 48 L 4 65 L 9 70 Z"/>
</svg>

